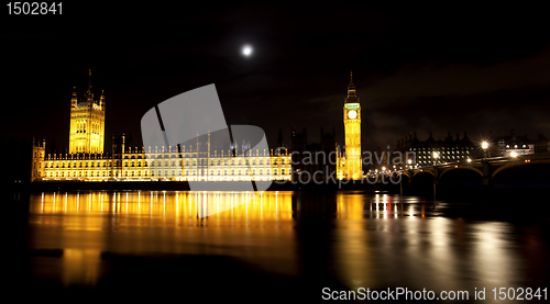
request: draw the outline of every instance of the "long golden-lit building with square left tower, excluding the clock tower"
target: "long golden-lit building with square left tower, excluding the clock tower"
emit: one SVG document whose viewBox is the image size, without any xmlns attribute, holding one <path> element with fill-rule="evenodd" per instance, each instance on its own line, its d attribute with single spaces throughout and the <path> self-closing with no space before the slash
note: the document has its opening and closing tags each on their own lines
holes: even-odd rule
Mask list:
<svg viewBox="0 0 550 304">
<path fill-rule="evenodd" d="M 73 93 L 69 153 L 47 154 L 46 143 L 33 143 L 32 181 L 270 181 L 290 180 L 290 154 L 286 149 L 251 149 L 243 143 L 227 150 L 207 143 L 187 146 L 127 147 L 116 140 L 103 151 L 105 97 L 94 101 L 91 86 L 78 101 Z M 200 145 L 201 144 L 201 145 Z"/>
</svg>

